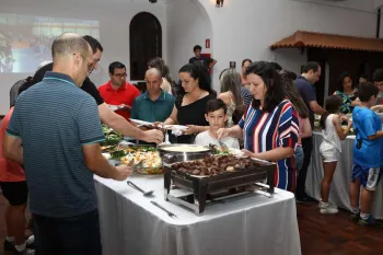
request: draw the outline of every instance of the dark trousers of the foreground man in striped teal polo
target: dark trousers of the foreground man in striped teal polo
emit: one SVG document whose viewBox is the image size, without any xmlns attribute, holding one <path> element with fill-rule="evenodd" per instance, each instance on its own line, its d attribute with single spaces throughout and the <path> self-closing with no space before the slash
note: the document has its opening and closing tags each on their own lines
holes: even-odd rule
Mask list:
<svg viewBox="0 0 383 255">
<path fill-rule="evenodd" d="M 101 255 L 98 211 L 68 218 L 33 215 L 36 255 Z"/>
</svg>

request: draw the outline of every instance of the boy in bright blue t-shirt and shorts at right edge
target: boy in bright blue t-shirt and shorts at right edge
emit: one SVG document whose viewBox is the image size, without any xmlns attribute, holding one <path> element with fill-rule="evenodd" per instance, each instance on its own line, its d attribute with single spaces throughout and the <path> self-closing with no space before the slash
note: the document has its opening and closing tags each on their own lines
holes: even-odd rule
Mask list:
<svg viewBox="0 0 383 255">
<path fill-rule="evenodd" d="M 376 185 L 383 173 L 382 123 L 371 109 L 375 105 L 379 89 L 370 83 L 362 83 L 359 88 L 360 106 L 356 106 L 352 113 L 356 140 L 353 144 L 352 181 L 350 184 L 350 202 L 352 208 L 351 219 L 359 219 L 360 225 L 376 224 L 376 220 L 370 215 L 371 201 Z M 361 210 L 359 217 L 359 193 L 362 188 Z"/>
</svg>

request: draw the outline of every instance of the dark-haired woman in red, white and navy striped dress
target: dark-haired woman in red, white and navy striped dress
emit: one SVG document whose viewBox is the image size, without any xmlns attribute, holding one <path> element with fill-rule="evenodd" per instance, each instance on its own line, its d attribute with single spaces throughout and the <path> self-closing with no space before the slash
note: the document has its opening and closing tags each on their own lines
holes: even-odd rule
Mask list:
<svg viewBox="0 0 383 255">
<path fill-rule="evenodd" d="M 244 137 L 244 153 L 252 158 L 277 162 L 276 186 L 294 192 L 294 148 L 298 141 L 298 116 L 286 100 L 283 83 L 276 69 L 265 61 L 253 62 L 246 79 L 254 95 L 237 126 L 218 130 L 218 138 Z"/>
</svg>

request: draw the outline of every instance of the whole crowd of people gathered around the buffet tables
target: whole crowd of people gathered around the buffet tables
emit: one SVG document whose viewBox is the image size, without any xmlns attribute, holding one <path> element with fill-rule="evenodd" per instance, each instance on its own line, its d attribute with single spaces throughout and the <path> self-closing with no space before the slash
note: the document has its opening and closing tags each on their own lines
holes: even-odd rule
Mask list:
<svg viewBox="0 0 383 255">
<path fill-rule="evenodd" d="M 103 53 L 95 38 L 66 33 L 54 40 L 53 62 L 16 84 L 18 100 L 1 123 L 0 186 L 9 201 L 5 248 L 15 254 L 34 250 L 38 254 L 101 254 L 93 174 L 125 181 L 131 173 L 128 166 L 111 166 L 102 157 L 101 123 L 140 142 L 164 141 L 162 131 L 139 128 L 130 119 L 188 127 L 179 136 L 172 135 L 171 142 L 223 142 L 245 155 L 276 162 L 276 187 L 295 193 L 298 201 L 309 201 L 304 185 L 314 114 L 322 115 L 321 213 L 337 212 L 328 202 L 329 187 L 341 154 L 340 140 L 355 127 L 351 218 L 360 224 L 376 223 L 370 210 L 381 175 L 383 132 L 371 108 L 383 91 L 382 70 L 374 74 L 375 84 L 363 81 L 358 89 L 343 73 L 323 108 L 313 88 L 321 77 L 316 62 L 306 63 L 297 77 L 276 62 L 245 59 L 241 73 L 222 71 L 217 93 L 209 74 L 217 60 L 202 57 L 200 46 L 194 51 L 196 56 L 178 71 L 179 82 L 173 81 L 163 59 L 151 59 L 144 77 L 147 90 L 141 93 L 127 82 L 125 65 L 116 61 L 109 65 L 109 81 L 95 86 L 89 74 L 97 69 Z M 352 121 L 345 115 L 350 113 Z M 25 241 L 27 201 L 34 237 Z"/>
</svg>

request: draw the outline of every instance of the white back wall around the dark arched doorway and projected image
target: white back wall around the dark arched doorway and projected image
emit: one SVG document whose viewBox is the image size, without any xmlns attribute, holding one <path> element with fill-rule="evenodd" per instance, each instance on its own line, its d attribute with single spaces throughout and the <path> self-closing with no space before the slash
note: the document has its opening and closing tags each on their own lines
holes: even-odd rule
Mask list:
<svg viewBox="0 0 383 255">
<path fill-rule="evenodd" d="M 34 2 L 35 4 L 31 3 Z M 38 2 L 39 1 L 39 2 Z M 53 18 L 73 18 L 100 21 L 100 40 L 104 47 L 100 73 L 92 74 L 91 79 L 100 85 L 108 80 L 107 67 L 112 61 L 121 61 L 129 72 L 129 23 L 139 12 L 146 11 L 155 15 L 162 25 L 163 56 L 166 58 L 166 13 L 164 3 L 151 4 L 149 1 L 120 3 L 118 1 L 101 3 L 81 0 L 43 2 L 44 0 L 7 1 L 0 0 L 1 13 L 15 13 Z M 89 0 L 91 1 L 91 0 Z M 9 108 L 9 90 L 15 81 L 32 73 L 0 73 L 0 115 Z M 129 79 L 129 77 L 128 77 Z"/>
</svg>

